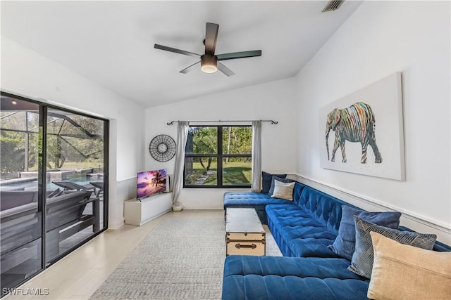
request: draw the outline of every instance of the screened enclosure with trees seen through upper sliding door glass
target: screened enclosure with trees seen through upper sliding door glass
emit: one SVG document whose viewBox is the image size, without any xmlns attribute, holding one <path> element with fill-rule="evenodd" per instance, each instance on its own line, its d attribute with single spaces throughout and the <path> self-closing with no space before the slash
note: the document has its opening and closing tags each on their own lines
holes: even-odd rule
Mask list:
<svg viewBox="0 0 451 300">
<path fill-rule="evenodd" d="M 39 110 L 34 103 L 1 97 L 1 180 L 32 178 L 37 172 Z M 47 112 L 47 171 L 87 169 L 85 173 L 103 172 L 103 121 L 49 109 Z M 65 178 L 65 176 L 62 176 Z M 61 179 L 62 179 L 61 178 Z"/>
</svg>

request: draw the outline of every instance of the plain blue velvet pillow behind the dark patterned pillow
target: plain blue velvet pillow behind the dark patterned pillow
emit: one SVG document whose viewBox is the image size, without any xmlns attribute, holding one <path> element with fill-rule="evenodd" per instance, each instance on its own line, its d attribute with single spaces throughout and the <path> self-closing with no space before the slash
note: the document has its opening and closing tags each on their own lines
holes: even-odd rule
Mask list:
<svg viewBox="0 0 451 300">
<path fill-rule="evenodd" d="M 398 211 L 362 211 L 342 205 L 338 236 L 328 247 L 338 256 L 348 260 L 352 259 L 355 248 L 354 216 L 359 216 L 359 218 L 377 225 L 397 229 L 400 226 L 401 213 Z"/>
</svg>

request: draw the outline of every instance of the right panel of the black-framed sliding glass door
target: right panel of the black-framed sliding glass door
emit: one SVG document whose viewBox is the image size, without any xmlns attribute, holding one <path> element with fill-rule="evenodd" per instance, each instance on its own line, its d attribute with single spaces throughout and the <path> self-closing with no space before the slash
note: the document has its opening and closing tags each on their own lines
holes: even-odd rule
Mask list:
<svg viewBox="0 0 451 300">
<path fill-rule="evenodd" d="M 104 120 L 47 110 L 47 262 L 104 227 L 104 132 Z"/>
</svg>

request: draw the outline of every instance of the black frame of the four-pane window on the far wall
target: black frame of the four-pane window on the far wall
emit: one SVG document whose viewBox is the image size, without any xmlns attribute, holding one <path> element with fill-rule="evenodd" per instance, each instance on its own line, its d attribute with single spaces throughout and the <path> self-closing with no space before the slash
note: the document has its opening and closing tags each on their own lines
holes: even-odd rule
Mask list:
<svg viewBox="0 0 451 300">
<path fill-rule="evenodd" d="M 223 159 L 230 157 L 230 158 L 245 158 L 250 157 L 252 159 L 252 146 L 251 146 L 251 152 L 248 154 L 224 154 L 223 153 L 223 128 L 224 127 L 250 127 L 252 131 L 252 125 L 190 125 L 190 128 L 192 127 L 215 127 L 217 129 L 217 136 L 216 136 L 216 145 L 217 145 L 217 153 L 216 154 L 194 154 L 194 153 L 187 153 L 185 148 L 185 156 L 184 156 L 184 163 L 183 163 L 183 188 L 223 188 L 223 189 L 233 189 L 233 188 L 251 188 L 252 183 L 249 183 L 248 185 L 223 185 Z M 216 158 L 216 185 L 187 185 L 186 184 L 186 178 L 185 178 L 185 164 L 187 158 L 196 158 L 196 157 L 212 157 Z"/>
</svg>

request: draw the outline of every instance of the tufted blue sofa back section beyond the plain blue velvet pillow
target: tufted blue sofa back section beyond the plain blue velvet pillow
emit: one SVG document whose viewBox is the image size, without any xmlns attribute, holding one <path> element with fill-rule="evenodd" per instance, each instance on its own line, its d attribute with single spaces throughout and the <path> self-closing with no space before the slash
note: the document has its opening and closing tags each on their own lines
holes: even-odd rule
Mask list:
<svg viewBox="0 0 451 300">
<path fill-rule="evenodd" d="M 342 204 L 347 204 L 333 196 L 306 186 L 301 193 L 298 205 L 321 221 L 330 231 L 338 235 Z"/>
</svg>

